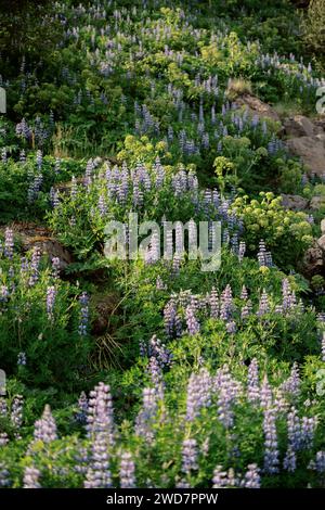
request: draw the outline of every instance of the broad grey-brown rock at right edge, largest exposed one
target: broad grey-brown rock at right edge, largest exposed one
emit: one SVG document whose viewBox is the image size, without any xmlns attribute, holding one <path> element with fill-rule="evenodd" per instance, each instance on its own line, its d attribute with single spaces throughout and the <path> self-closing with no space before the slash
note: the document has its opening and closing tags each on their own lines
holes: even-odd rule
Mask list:
<svg viewBox="0 0 325 510">
<path fill-rule="evenodd" d="M 299 156 L 309 174 L 325 174 L 325 135 L 291 138 L 286 141 L 289 152 Z"/>
</svg>

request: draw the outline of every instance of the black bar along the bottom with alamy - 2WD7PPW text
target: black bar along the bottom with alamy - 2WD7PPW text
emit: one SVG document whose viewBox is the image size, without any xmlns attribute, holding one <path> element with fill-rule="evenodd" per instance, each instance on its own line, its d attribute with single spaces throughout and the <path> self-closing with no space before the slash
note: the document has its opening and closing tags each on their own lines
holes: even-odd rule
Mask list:
<svg viewBox="0 0 325 510">
<path fill-rule="evenodd" d="M 130 508 L 150 508 L 154 505 L 180 506 L 208 505 L 227 509 L 238 503 L 238 508 L 262 508 L 262 505 L 277 506 L 297 501 L 300 505 L 317 505 L 324 499 L 323 489 L 2 489 L 0 508 L 10 505 L 57 505 L 72 503 L 76 507 L 127 506 Z M 23 508 L 23 507 L 21 507 Z M 275 509 L 276 510 L 276 509 Z"/>
</svg>

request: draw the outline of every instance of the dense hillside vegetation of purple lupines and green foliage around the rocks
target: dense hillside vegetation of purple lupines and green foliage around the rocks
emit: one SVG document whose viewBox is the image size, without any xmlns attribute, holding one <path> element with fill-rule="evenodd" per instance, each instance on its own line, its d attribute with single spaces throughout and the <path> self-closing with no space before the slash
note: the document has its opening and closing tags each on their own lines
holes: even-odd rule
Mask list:
<svg viewBox="0 0 325 510">
<path fill-rule="evenodd" d="M 324 2 L 11 3 L 0 486 L 324 487 L 324 279 L 301 270 L 324 211 L 280 194 L 325 184 L 236 103 L 315 115 Z M 186 240 L 105 256 L 130 213 L 220 221 L 219 269 Z"/>
</svg>

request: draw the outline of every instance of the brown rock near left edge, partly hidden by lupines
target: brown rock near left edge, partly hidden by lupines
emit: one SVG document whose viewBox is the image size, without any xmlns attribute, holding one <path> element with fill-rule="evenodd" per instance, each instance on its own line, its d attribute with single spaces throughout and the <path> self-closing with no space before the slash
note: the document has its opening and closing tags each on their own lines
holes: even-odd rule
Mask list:
<svg viewBox="0 0 325 510">
<path fill-rule="evenodd" d="M 49 259 L 53 257 L 60 258 L 61 269 L 73 262 L 72 254 L 51 235 L 51 232 L 46 228 L 36 224 L 13 224 L 10 226 L 22 243 L 23 252 L 32 250 L 35 246 L 39 247 L 41 253 L 48 255 Z"/>
</svg>

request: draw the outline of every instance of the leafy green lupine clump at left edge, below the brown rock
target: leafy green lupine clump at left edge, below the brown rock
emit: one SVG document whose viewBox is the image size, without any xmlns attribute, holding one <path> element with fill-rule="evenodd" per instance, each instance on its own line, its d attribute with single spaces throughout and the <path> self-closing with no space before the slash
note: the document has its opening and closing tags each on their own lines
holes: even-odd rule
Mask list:
<svg viewBox="0 0 325 510">
<path fill-rule="evenodd" d="M 37 268 L 31 256 L 1 258 L 1 367 L 31 385 L 76 387 L 90 353 L 88 336 L 78 333 L 80 289 L 53 278 L 44 262 Z M 49 290 L 54 292 L 51 313 Z M 26 365 L 20 365 L 20 353 Z"/>
</svg>

